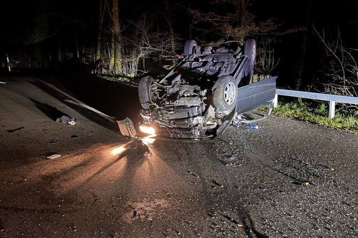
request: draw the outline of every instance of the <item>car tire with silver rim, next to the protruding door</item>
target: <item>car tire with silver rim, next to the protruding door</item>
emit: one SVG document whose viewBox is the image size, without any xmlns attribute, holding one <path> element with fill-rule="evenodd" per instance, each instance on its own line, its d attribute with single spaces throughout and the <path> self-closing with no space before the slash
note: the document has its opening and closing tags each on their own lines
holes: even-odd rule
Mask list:
<svg viewBox="0 0 358 238">
<path fill-rule="evenodd" d="M 214 85 L 213 104 L 214 107 L 224 114 L 229 114 L 236 106 L 237 84 L 230 75 L 218 78 Z"/>
</svg>

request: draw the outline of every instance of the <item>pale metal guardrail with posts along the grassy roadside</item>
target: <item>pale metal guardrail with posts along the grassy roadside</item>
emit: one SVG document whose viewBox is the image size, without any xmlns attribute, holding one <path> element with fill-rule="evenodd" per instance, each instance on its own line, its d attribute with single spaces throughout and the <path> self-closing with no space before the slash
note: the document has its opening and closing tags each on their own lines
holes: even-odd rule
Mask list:
<svg viewBox="0 0 358 238">
<path fill-rule="evenodd" d="M 276 95 L 275 95 L 275 99 L 273 101 L 273 106 L 275 108 L 277 107 L 277 99 L 278 99 L 277 96 L 278 95 L 295 97 L 295 98 L 308 98 L 308 99 L 329 101 L 329 118 L 330 119 L 334 119 L 336 102 L 358 105 L 357 97 L 348 97 L 348 96 L 340 96 L 340 95 L 332 95 L 332 94 L 320 94 L 320 93 L 310 93 L 310 92 L 303 92 L 303 91 L 276 89 Z"/>
</svg>

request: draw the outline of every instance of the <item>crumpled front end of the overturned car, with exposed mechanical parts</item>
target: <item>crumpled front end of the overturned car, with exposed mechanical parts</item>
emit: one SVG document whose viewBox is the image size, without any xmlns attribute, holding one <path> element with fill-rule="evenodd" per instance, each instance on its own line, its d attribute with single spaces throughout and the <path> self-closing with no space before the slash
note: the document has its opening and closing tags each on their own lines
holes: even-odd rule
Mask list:
<svg viewBox="0 0 358 238">
<path fill-rule="evenodd" d="M 177 75 L 171 84 L 155 83 L 151 88 L 152 103 L 140 111 L 143 123 L 155 127 L 156 134 L 185 139 L 210 139 L 221 120 L 214 108 L 206 110 L 207 90 L 190 85 Z"/>
</svg>

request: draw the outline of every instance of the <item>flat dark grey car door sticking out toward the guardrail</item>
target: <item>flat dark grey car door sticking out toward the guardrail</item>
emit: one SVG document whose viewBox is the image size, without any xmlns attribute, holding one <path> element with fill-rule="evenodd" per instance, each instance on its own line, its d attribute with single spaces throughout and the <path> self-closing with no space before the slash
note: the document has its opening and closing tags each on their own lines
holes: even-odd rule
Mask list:
<svg viewBox="0 0 358 238">
<path fill-rule="evenodd" d="M 276 78 L 277 76 L 273 76 L 267 80 L 238 88 L 236 112 L 241 114 L 273 103 L 276 94 Z"/>
</svg>

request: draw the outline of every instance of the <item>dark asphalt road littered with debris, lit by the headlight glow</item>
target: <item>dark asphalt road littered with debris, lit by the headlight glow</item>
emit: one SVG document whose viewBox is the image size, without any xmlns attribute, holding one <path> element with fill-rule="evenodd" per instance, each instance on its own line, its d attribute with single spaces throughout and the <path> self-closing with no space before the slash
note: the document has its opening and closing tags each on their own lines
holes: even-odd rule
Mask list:
<svg viewBox="0 0 358 238">
<path fill-rule="evenodd" d="M 0 81 L 0 237 L 358 237 L 358 135 L 271 116 L 146 148 L 63 101 L 124 119 L 135 88 Z M 65 114 L 79 123 L 54 121 Z"/>
</svg>

